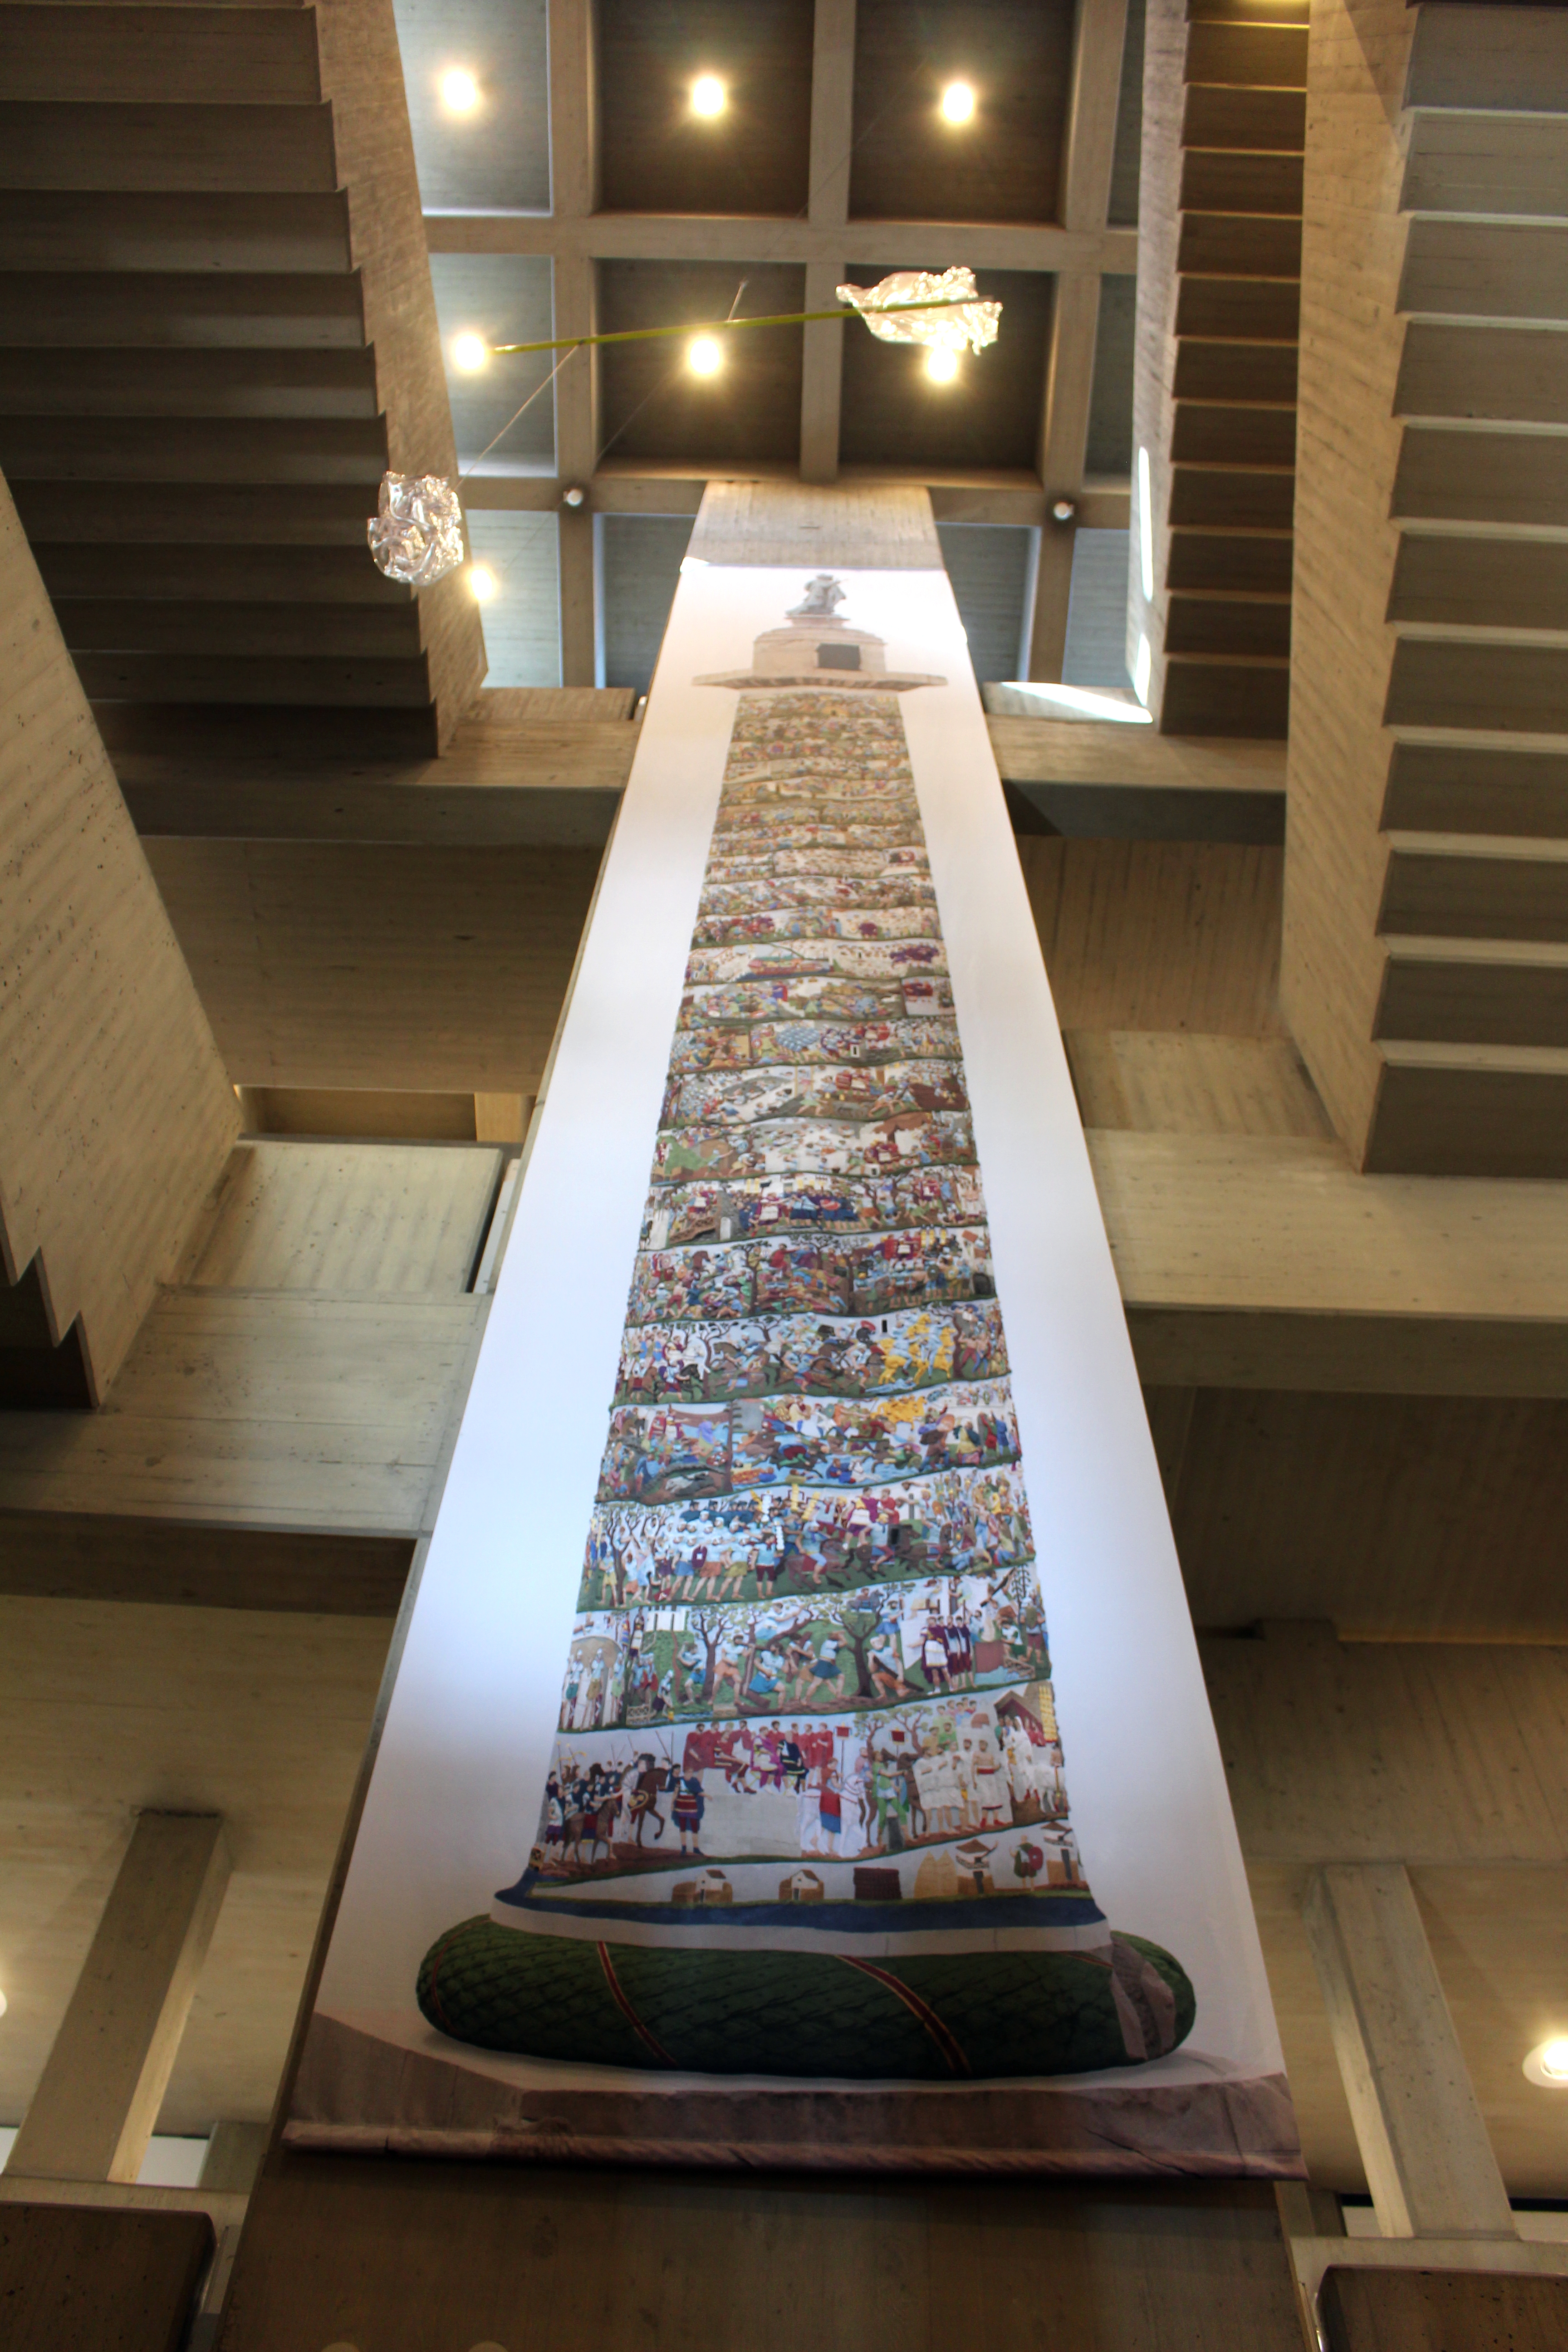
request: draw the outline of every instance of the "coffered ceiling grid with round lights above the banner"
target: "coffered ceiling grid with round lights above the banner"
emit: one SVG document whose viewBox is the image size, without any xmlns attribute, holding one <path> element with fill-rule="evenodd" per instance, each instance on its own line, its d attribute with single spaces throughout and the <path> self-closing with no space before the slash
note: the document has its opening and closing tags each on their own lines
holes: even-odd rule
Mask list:
<svg viewBox="0 0 1568 2352">
<path fill-rule="evenodd" d="M 837 322 L 736 336 L 705 383 L 679 341 L 578 353 L 484 456 L 550 362 L 454 369 L 470 515 L 588 492 L 559 529 L 567 680 L 595 677 L 595 609 L 604 668 L 592 513 L 691 515 L 710 477 L 917 480 L 940 522 L 1032 529 L 1070 496 L 1126 527 L 1140 0 L 400 0 L 397 24 L 447 343 L 823 308 L 952 261 L 1004 303 L 999 346 L 943 388 Z M 468 113 L 442 101 L 454 68 Z M 698 73 L 724 82 L 717 118 Z M 966 125 L 940 113 L 952 80 Z M 520 524 L 489 532 L 510 548 Z M 1046 524 L 1037 675 L 1060 675 L 1072 550 Z"/>
</svg>

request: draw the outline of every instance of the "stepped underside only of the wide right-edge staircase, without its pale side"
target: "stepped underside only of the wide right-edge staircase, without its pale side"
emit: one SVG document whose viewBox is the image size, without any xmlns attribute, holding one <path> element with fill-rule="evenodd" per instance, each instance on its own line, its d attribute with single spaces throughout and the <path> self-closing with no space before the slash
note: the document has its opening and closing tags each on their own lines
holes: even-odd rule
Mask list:
<svg viewBox="0 0 1568 2352">
<path fill-rule="evenodd" d="M 1368 1167 L 1568 1174 L 1568 19 L 1410 73 Z M 1455 9 L 1460 19 L 1479 12 Z M 1512 19 L 1526 12 L 1502 12 Z M 1439 38 L 1432 38 L 1439 35 Z"/>
</svg>

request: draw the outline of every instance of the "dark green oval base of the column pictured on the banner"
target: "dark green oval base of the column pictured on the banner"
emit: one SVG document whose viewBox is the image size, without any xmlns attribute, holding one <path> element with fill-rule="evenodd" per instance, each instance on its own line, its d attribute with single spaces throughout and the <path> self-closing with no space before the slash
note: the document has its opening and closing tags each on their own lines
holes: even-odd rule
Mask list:
<svg viewBox="0 0 1568 2352">
<path fill-rule="evenodd" d="M 1112 1969 L 1081 1952 L 917 1952 L 872 1973 L 839 1952 L 597 1945 L 480 1915 L 430 1945 L 418 2006 L 454 2042 L 578 2065 L 851 2082 L 1086 2074 L 1164 2056 L 1197 2011 L 1180 1962 L 1143 1936 L 1112 1943 L 1121 2002 Z"/>
</svg>

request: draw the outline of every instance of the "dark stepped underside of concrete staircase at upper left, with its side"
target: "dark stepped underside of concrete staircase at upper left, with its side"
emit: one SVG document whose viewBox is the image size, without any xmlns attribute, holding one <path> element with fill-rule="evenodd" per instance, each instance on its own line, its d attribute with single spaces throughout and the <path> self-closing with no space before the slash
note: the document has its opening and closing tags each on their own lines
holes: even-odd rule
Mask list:
<svg viewBox="0 0 1568 2352">
<path fill-rule="evenodd" d="M 371 564 L 454 475 L 390 0 L 0 5 L 0 470 L 110 753 L 428 755 L 482 677 Z"/>
</svg>

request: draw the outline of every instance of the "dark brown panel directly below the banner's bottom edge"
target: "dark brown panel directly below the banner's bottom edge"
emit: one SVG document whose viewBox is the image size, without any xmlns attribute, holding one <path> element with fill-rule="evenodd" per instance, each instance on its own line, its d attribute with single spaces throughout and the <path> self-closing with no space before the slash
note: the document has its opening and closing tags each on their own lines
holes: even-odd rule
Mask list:
<svg viewBox="0 0 1568 2352">
<path fill-rule="evenodd" d="M 820 2187 L 386 2157 L 270 2161 L 221 2343 L 397 2343 L 440 2296 L 454 2343 L 576 2352 L 646 2326 L 649 2274 L 670 2343 L 795 2352 L 806 2324 L 820 2352 L 1300 2347 L 1262 2185 Z"/>
</svg>

